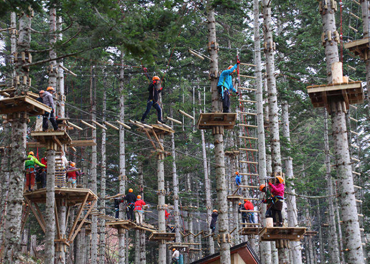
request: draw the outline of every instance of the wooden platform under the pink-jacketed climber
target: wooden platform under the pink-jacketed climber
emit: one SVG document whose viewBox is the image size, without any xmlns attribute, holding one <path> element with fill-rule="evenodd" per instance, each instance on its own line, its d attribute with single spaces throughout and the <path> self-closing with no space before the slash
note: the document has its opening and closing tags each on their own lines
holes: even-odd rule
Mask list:
<svg viewBox="0 0 370 264">
<path fill-rule="evenodd" d="M 275 240 L 290 240 L 300 241 L 306 228 L 291 228 L 291 227 L 273 227 L 263 228 L 259 231 L 259 240 L 261 241 L 275 241 Z"/>
</svg>

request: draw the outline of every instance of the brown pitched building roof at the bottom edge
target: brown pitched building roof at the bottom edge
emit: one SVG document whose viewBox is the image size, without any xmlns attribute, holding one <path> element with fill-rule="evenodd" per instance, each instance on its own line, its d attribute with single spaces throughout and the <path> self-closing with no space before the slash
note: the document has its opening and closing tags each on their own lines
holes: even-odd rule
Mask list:
<svg viewBox="0 0 370 264">
<path fill-rule="evenodd" d="M 256 252 L 248 242 L 244 242 L 230 248 L 230 255 L 238 253 L 247 264 L 261 264 Z M 190 264 L 208 264 L 220 259 L 220 252 L 209 255 L 203 259 L 197 260 Z"/>
</svg>

